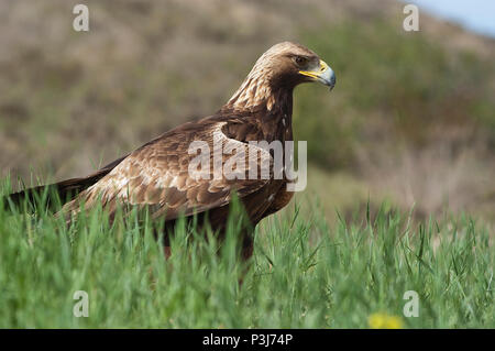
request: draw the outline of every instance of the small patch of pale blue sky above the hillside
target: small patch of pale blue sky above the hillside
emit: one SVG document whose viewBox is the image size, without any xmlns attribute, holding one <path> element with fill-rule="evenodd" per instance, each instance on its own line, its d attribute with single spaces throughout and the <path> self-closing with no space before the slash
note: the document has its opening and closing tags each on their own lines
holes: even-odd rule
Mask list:
<svg viewBox="0 0 495 351">
<path fill-rule="evenodd" d="M 403 0 L 419 11 L 455 22 L 465 29 L 495 37 L 495 0 Z"/>
</svg>

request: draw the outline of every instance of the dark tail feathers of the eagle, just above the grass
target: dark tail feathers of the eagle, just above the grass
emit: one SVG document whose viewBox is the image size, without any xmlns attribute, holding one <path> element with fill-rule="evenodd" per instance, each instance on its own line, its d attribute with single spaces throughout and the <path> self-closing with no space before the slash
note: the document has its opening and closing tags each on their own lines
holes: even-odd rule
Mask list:
<svg viewBox="0 0 495 351">
<path fill-rule="evenodd" d="M 105 177 L 110 171 L 112 171 L 119 163 L 122 162 L 128 155 L 113 161 L 105 167 L 98 169 L 94 174 L 82 178 L 72 178 L 62 180 L 48 185 L 40 185 L 36 187 L 28 188 L 18 193 L 13 193 L 4 196 L 3 204 L 9 207 L 9 204 L 14 208 L 19 208 L 22 204 L 37 204 L 38 199 L 43 196 L 47 196 L 46 205 L 53 207 L 55 205 L 55 197 L 63 204 L 72 200 L 77 194 L 84 191 L 102 177 Z"/>
</svg>

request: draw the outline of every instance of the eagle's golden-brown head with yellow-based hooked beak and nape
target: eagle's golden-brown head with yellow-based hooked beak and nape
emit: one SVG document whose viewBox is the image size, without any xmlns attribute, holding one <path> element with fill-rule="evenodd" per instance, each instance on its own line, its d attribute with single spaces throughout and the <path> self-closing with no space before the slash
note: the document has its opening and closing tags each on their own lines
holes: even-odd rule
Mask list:
<svg viewBox="0 0 495 351">
<path fill-rule="evenodd" d="M 283 42 L 268 48 L 256 61 L 228 106 L 234 109 L 266 106 L 271 110 L 279 91 L 292 94 L 294 87 L 309 81 L 319 81 L 331 90 L 336 85 L 336 75 L 330 66 L 309 48 Z"/>
</svg>

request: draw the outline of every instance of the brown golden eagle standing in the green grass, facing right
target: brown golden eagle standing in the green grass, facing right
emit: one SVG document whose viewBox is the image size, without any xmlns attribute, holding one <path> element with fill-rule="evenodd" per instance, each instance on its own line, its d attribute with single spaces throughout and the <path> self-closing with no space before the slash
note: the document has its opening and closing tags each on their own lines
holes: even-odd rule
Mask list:
<svg viewBox="0 0 495 351">
<path fill-rule="evenodd" d="M 273 150 L 256 142 L 293 141 L 293 91 L 297 85 L 310 81 L 319 81 L 331 90 L 336 76 L 309 48 L 292 42 L 276 44 L 256 61 L 240 88 L 215 114 L 163 133 L 88 176 L 24 189 L 11 194 L 9 199 L 13 204 L 25 198 L 33 200 L 35 194 L 50 187 L 65 201 L 61 211 L 64 213 L 102 206 L 111 218 L 121 206 L 146 207 L 152 218 L 164 219 L 168 229 L 182 216 L 186 220 L 202 217 L 221 235 L 229 207 L 238 198 L 251 228 L 242 232 L 241 240 L 241 255 L 249 259 L 253 252 L 252 229 L 285 207 L 294 195 L 287 187 L 294 180 L 286 176 L 284 166 L 275 166 Z M 235 154 L 221 153 L 216 160 L 207 156 L 206 161 L 219 164 L 219 169 L 232 158 L 238 162 L 245 155 L 255 155 L 251 160 L 254 162 L 237 163 L 238 175 L 244 176 L 213 174 L 211 163 L 198 176 L 190 172 L 191 162 L 198 157 L 190 152 L 195 142 L 210 151 L 216 145 L 235 150 Z M 268 165 L 268 176 L 262 177 L 262 172 L 255 177 L 245 176 L 263 164 Z M 277 172 L 282 176 L 275 177 Z M 168 244 L 165 241 L 165 252 Z"/>
</svg>

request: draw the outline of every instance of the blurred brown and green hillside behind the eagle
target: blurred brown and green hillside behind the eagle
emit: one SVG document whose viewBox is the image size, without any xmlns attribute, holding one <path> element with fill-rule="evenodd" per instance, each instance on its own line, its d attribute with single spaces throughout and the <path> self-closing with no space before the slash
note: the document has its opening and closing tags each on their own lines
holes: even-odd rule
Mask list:
<svg viewBox="0 0 495 351">
<path fill-rule="evenodd" d="M 419 32 L 403 30 L 395 0 L 2 0 L 0 176 L 88 174 L 213 113 L 265 50 L 289 40 L 338 77 L 331 94 L 295 92 L 294 132 L 310 162 L 296 199 L 305 210 L 319 204 L 333 221 L 336 210 L 351 218 L 385 204 L 493 224 L 495 32 L 416 2 Z M 89 7 L 89 32 L 73 30 L 77 3 Z"/>
</svg>

